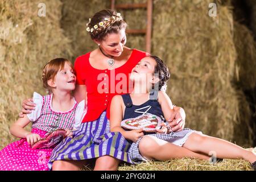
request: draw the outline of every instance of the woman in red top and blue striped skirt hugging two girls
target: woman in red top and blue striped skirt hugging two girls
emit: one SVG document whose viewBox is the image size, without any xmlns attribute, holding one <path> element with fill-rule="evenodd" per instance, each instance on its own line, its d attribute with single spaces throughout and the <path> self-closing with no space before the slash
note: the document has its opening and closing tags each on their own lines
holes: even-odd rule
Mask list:
<svg viewBox="0 0 256 182">
<path fill-rule="evenodd" d="M 86 30 L 98 48 L 77 57 L 74 92 L 77 102 L 87 101 L 87 113 L 73 138 L 65 138 L 53 150 L 49 168 L 78 170 L 86 159 L 93 158 L 96 158 L 95 170 L 115 170 L 120 160 L 132 163 L 127 154 L 129 143 L 120 133 L 110 133 L 109 128 L 112 98 L 131 92 L 133 83 L 129 83 L 129 73 L 148 55 L 125 47 L 126 26 L 121 15 L 113 10 L 99 11 L 87 24 Z M 32 109 L 29 101 L 23 102 L 23 113 L 27 113 L 25 109 Z M 175 114 L 170 118 L 172 130 L 183 130 L 184 123 L 184 110 L 175 107 Z"/>
</svg>

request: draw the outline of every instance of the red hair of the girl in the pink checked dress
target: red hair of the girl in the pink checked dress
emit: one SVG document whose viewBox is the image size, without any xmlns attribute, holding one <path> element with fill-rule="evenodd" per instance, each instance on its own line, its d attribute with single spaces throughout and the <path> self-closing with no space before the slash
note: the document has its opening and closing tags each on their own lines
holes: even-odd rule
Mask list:
<svg viewBox="0 0 256 182">
<path fill-rule="evenodd" d="M 48 80 L 54 80 L 57 73 L 64 68 L 65 63 L 73 68 L 71 61 L 64 59 L 64 58 L 56 58 L 49 61 L 46 65 L 44 65 L 43 72 L 42 72 L 42 81 L 43 87 L 47 90 L 47 93 L 52 93 L 52 87 L 48 85 Z"/>
</svg>

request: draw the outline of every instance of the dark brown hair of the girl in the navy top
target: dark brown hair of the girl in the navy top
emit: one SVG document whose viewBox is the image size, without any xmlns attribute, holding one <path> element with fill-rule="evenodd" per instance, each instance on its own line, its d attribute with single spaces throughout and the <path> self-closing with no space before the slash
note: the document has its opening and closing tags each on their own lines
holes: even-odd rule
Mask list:
<svg viewBox="0 0 256 182">
<path fill-rule="evenodd" d="M 162 90 L 166 92 L 166 87 L 167 87 L 167 81 L 171 76 L 171 73 L 169 72 L 169 69 L 166 64 L 157 56 L 152 56 L 152 59 L 156 61 L 156 66 L 155 66 L 155 74 L 158 74 L 159 78 L 159 90 Z M 154 85 L 152 85 L 152 89 L 154 88 Z M 156 89 L 156 88 L 155 88 Z"/>
</svg>

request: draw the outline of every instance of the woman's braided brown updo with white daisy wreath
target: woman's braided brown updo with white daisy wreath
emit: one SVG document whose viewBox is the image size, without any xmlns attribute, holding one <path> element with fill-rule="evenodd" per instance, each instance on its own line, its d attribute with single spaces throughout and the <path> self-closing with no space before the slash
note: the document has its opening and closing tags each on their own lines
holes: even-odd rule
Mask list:
<svg viewBox="0 0 256 182">
<path fill-rule="evenodd" d="M 86 26 L 90 37 L 101 41 L 106 35 L 125 29 L 127 23 L 122 19 L 121 14 L 106 9 L 94 14 Z"/>
</svg>

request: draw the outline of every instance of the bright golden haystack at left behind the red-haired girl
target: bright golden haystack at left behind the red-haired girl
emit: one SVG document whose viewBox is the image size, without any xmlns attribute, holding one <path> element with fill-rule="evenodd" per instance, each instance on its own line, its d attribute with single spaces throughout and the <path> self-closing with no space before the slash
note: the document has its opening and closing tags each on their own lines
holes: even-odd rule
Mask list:
<svg viewBox="0 0 256 182">
<path fill-rule="evenodd" d="M 38 16 L 39 3 L 46 4 L 46 17 Z M 69 39 L 60 28 L 61 7 L 60 1 L 0 1 L 0 148 L 16 140 L 9 127 L 24 98 L 34 91 L 45 94 L 43 65 L 71 57 Z"/>
</svg>

